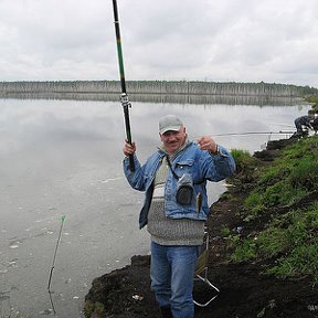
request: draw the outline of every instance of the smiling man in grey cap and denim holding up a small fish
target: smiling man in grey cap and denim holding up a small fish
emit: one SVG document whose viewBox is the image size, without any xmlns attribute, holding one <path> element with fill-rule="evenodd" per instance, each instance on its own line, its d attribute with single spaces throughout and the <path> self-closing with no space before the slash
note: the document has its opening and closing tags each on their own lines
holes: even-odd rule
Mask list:
<svg viewBox="0 0 318 318">
<path fill-rule="evenodd" d="M 206 180 L 230 177 L 235 163 L 211 137 L 190 141 L 174 115 L 159 120 L 159 136 L 162 146 L 144 166 L 136 157 L 136 144 L 126 142 L 124 171 L 134 189 L 146 191 L 139 226 L 148 224 L 151 235 L 151 289 L 162 317 L 193 318 L 193 276 L 209 213 Z M 129 170 L 131 155 L 135 171 Z"/>
</svg>

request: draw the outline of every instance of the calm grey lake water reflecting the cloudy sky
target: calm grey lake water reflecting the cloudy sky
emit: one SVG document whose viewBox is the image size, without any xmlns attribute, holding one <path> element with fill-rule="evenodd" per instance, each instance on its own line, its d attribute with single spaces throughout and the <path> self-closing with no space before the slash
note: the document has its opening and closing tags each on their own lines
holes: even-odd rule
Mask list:
<svg viewBox="0 0 318 318">
<path fill-rule="evenodd" d="M 308 108 L 139 102 L 131 108 L 132 138 L 144 161 L 159 145 L 158 118 L 176 114 L 190 138 L 211 135 L 253 152 L 285 137 L 269 131 L 294 130 Z M 268 134 L 220 136 L 246 131 Z M 148 253 L 147 231 L 138 230 L 144 195 L 123 178 L 123 140 L 117 102 L 0 99 L 0 317 L 50 315 L 61 215 L 51 285 L 57 317 L 83 317 L 94 277 Z M 209 189 L 212 203 L 224 183 Z"/>
</svg>

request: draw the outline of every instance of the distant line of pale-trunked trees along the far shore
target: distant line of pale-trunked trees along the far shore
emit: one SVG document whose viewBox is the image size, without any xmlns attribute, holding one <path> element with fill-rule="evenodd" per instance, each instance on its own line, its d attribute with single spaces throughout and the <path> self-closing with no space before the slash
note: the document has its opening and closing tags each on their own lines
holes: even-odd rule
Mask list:
<svg viewBox="0 0 318 318">
<path fill-rule="evenodd" d="M 318 95 L 309 86 L 271 83 L 127 81 L 128 94 L 227 95 L 259 97 L 304 97 Z M 114 94 L 120 93 L 119 81 L 0 82 L 0 96 L 12 94 Z"/>
</svg>

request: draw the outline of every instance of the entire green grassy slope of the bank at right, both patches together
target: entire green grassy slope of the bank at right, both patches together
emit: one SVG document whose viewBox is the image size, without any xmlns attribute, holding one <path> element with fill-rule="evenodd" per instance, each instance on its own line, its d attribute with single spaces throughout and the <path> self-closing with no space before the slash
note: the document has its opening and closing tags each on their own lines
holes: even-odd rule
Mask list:
<svg viewBox="0 0 318 318">
<path fill-rule="evenodd" d="M 244 173 L 248 169 L 257 183 L 240 215 L 243 229 L 251 230 L 227 233 L 232 261 L 265 261 L 265 274 L 309 276 L 317 284 L 318 136 L 295 141 L 267 167 L 258 167 L 247 152 L 233 155 L 239 169 Z"/>
</svg>

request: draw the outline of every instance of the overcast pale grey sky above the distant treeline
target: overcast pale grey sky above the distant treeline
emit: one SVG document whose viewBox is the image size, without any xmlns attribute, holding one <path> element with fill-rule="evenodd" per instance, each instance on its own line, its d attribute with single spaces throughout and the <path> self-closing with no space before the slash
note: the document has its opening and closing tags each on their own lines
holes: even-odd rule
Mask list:
<svg viewBox="0 0 318 318">
<path fill-rule="evenodd" d="M 317 0 L 117 0 L 126 81 L 318 87 Z M 112 0 L 0 0 L 0 81 L 119 80 Z"/>
</svg>

